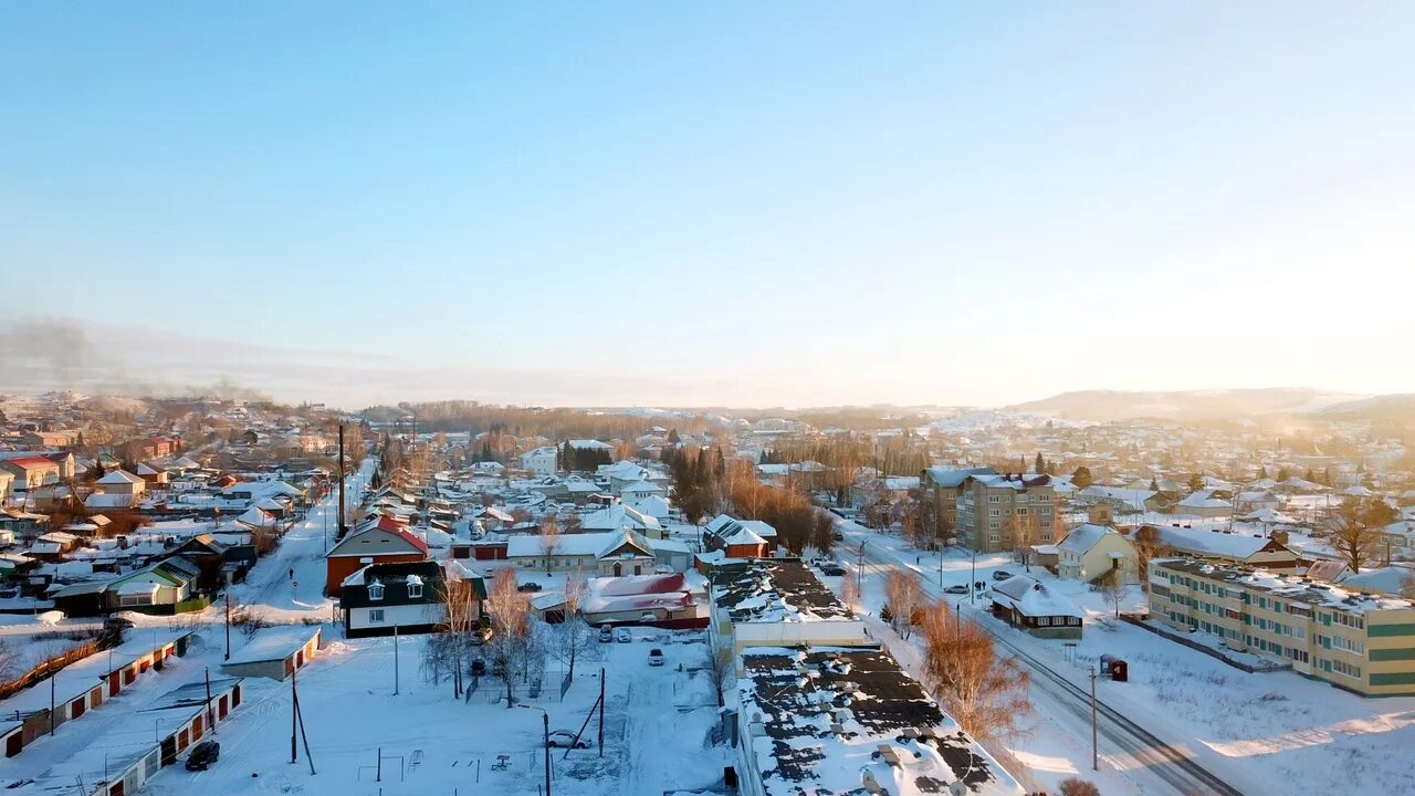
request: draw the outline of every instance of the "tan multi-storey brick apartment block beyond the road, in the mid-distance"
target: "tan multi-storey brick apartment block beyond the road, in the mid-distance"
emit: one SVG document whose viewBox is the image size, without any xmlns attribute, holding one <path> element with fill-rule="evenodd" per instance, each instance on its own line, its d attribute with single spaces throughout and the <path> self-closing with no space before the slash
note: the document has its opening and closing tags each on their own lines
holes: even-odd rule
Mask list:
<svg viewBox="0 0 1415 796">
<path fill-rule="evenodd" d="M 971 550 L 999 552 L 1049 544 L 1057 506 L 1051 476 L 974 474 L 958 494 L 958 535 Z M 1024 538 L 1023 538 L 1024 537 Z"/>
</svg>

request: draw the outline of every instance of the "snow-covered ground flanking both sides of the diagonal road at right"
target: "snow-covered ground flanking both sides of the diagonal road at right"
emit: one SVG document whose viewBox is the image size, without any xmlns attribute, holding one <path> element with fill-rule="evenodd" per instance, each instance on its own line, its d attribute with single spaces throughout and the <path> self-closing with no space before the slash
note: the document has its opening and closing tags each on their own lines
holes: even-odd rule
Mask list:
<svg viewBox="0 0 1415 796">
<path fill-rule="evenodd" d="M 901 565 L 920 571 L 925 582 L 940 582 L 940 558 L 908 550 L 899 537 L 853 533 L 848 538 L 856 545 L 867 540 L 869 545 L 887 550 Z M 852 559 L 845 550 L 838 558 Z M 971 558 L 945 555 L 942 582 L 968 582 L 971 567 Z M 992 571 L 999 568 L 1013 574 L 1024 571 L 1007 555 L 979 557 L 978 579 L 990 584 Z M 1033 567 L 1030 574 L 1070 596 L 1085 612 L 1085 633 L 1077 647 L 1036 639 L 981 610 L 972 615 L 1000 639 L 1046 661 L 1078 686 L 1088 687 L 1088 670 L 1101 654 L 1128 660 L 1129 683 L 1099 680 L 1098 698 L 1166 741 L 1183 744 L 1197 762 L 1245 795 L 1292 793 L 1296 782 L 1310 792 L 1415 793 L 1415 765 L 1408 752 L 1415 748 L 1415 698 L 1361 698 L 1290 671 L 1249 674 L 1115 620 L 1112 608 L 1084 584 L 1053 578 L 1040 567 Z M 966 596 L 949 599 L 961 599 L 964 610 L 969 610 Z M 872 610 L 883 603 L 882 572 L 870 567 L 866 567 L 865 601 Z M 1145 595 L 1133 586 L 1122 610 L 1142 605 Z M 1036 687 L 1033 697 L 1039 708 L 1046 704 L 1046 695 L 1037 694 Z M 1034 721 L 1032 734 L 1010 748 L 1036 769 L 1039 779 L 1051 780 L 1051 769 L 1064 773 L 1068 768 L 1081 768 L 1084 776 L 1102 782 L 1087 771 L 1088 727 L 1077 728 L 1065 717 L 1041 710 Z M 1084 735 L 1078 737 L 1077 729 Z M 1104 741 L 1101 754 L 1105 769 Z M 1102 785 L 1102 793 L 1169 792 L 1156 789 L 1153 778 L 1142 769 L 1115 773 L 1128 785 Z"/>
</svg>

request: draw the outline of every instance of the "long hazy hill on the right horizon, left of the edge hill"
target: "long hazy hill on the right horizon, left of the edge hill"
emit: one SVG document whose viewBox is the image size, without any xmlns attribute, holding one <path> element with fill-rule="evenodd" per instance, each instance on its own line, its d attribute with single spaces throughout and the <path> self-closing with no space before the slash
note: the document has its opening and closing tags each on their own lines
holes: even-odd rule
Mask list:
<svg viewBox="0 0 1415 796">
<path fill-rule="evenodd" d="M 1306 388 L 1196 390 L 1186 392 L 1125 392 L 1085 390 L 1063 392 L 1007 406 L 1012 412 L 1085 421 L 1218 421 L 1254 415 L 1309 414 L 1329 406 L 1358 404 L 1360 395 Z"/>
</svg>

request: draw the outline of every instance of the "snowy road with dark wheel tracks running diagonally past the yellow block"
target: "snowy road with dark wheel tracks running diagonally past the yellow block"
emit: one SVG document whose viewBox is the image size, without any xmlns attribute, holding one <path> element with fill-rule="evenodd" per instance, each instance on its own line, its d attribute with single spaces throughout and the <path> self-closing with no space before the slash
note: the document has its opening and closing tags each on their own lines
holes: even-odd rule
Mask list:
<svg viewBox="0 0 1415 796">
<path fill-rule="evenodd" d="M 845 535 L 845 550 L 841 557 L 852 562 L 859 561 L 860 542 L 865 542 L 866 572 L 870 565 L 876 568 L 901 568 L 906 562 L 883 545 L 872 545 L 873 533 L 860 528 L 855 523 L 836 523 L 838 530 Z M 849 555 L 846 555 L 849 550 Z M 920 578 L 924 592 L 934 599 L 947 599 L 938 584 L 930 578 Z M 1016 661 L 1030 671 L 1033 688 L 1040 688 L 1056 705 L 1084 724 L 1091 721 L 1091 694 L 1088 690 L 1071 683 L 1054 669 L 1039 661 L 1027 652 L 1019 649 L 1000 636 L 988 622 L 979 622 L 981 627 L 992 633 L 998 644 L 1006 649 Z M 1167 744 L 1152 731 L 1140 727 L 1135 721 L 1121 715 L 1119 711 L 1097 701 L 1097 732 L 1101 737 L 1101 751 L 1104 755 L 1122 754 L 1143 766 L 1153 775 L 1183 796 L 1217 795 L 1242 796 L 1242 792 L 1224 782 L 1221 778 L 1199 765 L 1190 755 L 1184 754 L 1173 744 Z M 1105 746 L 1111 746 L 1108 751 Z"/>
</svg>

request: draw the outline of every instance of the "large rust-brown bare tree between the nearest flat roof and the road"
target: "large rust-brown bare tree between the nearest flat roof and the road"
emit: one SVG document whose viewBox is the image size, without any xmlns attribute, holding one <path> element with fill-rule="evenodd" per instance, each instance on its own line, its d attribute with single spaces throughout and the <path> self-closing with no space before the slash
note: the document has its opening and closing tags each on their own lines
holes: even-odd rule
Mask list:
<svg viewBox="0 0 1415 796">
<path fill-rule="evenodd" d="M 934 603 L 924 616 L 925 684 L 979 741 L 1015 737 L 1032 711 L 1029 674 L 999 659 L 988 632 L 948 608 Z"/>
</svg>

